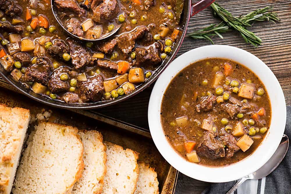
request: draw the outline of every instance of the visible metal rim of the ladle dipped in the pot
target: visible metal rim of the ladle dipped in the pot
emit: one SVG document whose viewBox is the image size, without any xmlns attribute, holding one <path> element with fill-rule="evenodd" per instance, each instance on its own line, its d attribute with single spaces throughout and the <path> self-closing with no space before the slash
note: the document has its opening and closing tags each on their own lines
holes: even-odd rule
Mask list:
<svg viewBox="0 0 291 194">
<path fill-rule="evenodd" d="M 103 36 L 101 36 L 100 38 L 96 38 L 96 39 L 93 39 L 93 40 L 91 40 L 91 39 L 86 39 L 86 38 L 84 38 L 84 37 L 79 37 L 79 36 L 77 36 L 77 35 L 74 35 L 74 34 L 72 34 L 71 32 L 69 32 L 64 26 L 63 26 L 63 22 L 58 18 L 58 15 L 55 13 L 55 10 L 57 9 L 56 8 L 56 5 L 55 5 L 55 3 L 54 3 L 54 0 L 51 0 L 51 8 L 52 8 L 52 12 L 53 12 L 53 15 L 54 15 L 54 17 L 56 18 L 56 21 L 58 22 L 58 24 L 60 24 L 60 26 L 70 35 L 70 36 L 72 36 L 72 37 L 74 37 L 74 38 L 77 38 L 77 39 L 79 39 L 79 40 L 83 40 L 83 41 L 89 41 L 89 42 L 93 42 L 93 41 L 98 41 L 98 40 L 103 40 L 103 39 L 106 39 L 106 38 L 108 38 L 108 37 L 110 37 L 110 36 L 112 36 L 112 35 L 114 35 L 119 29 L 120 29 L 120 27 L 121 27 L 121 25 L 118 25 L 118 26 L 115 26 L 114 27 L 114 29 L 110 32 L 110 33 L 107 33 L 107 34 L 105 34 L 105 35 L 103 35 Z"/>
</svg>

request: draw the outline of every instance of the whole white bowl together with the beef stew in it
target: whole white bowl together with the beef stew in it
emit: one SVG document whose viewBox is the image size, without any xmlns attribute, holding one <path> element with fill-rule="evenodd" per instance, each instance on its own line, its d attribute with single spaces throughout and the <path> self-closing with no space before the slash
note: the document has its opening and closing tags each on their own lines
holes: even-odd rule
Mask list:
<svg viewBox="0 0 291 194">
<path fill-rule="evenodd" d="M 188 51 L 161 74 L 148 107 L 163 157 L 194 179 L 227 182 L 258 170 L 286 122 L 281 86 L 259 58 L 210 45 Z"/>
</svg>

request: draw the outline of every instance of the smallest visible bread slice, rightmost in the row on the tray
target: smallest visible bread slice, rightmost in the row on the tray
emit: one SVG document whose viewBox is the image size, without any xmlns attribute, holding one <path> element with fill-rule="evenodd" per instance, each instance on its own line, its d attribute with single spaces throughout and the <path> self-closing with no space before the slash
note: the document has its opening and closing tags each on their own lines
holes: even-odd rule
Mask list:
<svg viewBox="0 0 291 194">
<path fill-rule="evenodd" d="M 139 180 L 134 194 L 159 194 L 157 172 L 144 162 L 139 163 Z"/>
</svg>

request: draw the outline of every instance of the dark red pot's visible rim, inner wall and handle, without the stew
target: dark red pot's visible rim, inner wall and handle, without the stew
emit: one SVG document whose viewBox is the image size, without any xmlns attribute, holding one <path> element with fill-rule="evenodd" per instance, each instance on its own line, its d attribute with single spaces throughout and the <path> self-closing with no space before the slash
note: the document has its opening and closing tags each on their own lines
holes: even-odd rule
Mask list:
<svg viewBox="0 0 291 194">
<path fill-rule="evenodd" d="M 66 109 L 93 109 L 93 108 L 101 108 L 104 106 L 110 106 L 110 105 L 116 104 L 118 102 L 121 102 L 125 99 L 128 99 L 128 98 L 136 95 L 137 93 L 143 91 L 145 88 L 150 86 L 150 84 L 153 83 L 158 78 L 158 76 L 165 70 L 165 68 L 168 66 L 168 64 L 175 58 L 175 55 L 177 54 L 180 46 L 182 45 L 190 17 L 192 17 L 196 13 L 200 12 L 201 10 L 205 9 L 206 7 L 210 6 L 213 2 L 214 2 L 214 0 L 201 0 L 198 3 L 192 4 L 191 0 L 184 1 L 184 8 L 183 8 L 183 12 L 181 14 L 180 24 L 179 24 L 180 29 L 182 30 L 182 34 L 180 35 L 178 40 L 175 42 L 175 45 L 172 49 L 171 56 L 166 58 L 166 60 L 164 60 L 164 62 L 159 67 L 157 67 L 157 69 L 155 70 L 155 73 L 145 83 L 138 86 L 136 88 L 136 90 L 134 90 L 130 94 L 124 95 L 124 96 L 119 97 L 117 99 L 103 101 L 103 102 L 95 102 L 95 103 L 67 104 L 63 101 L 53 100 L 53 99 L 50 99 L 48 97 L 42 96 L 40 94 L 34 93 L 31 89 L 26 88 L 21 83 L 14 81 L 12 79 L 12 77 L 10 76 L 10 73 L 6 72 L 6 70 L 4 70 L 2 65 L 0 65 L 0 74 L 8 83 L 10 83 L 12 86 L 14 86 L 22 94 L 24 94 L 24 95 L 26 95 L 26 96 L 30 97 L 31 99 L 34 99 L 38 102 L 42 102 L 44 104 L 47 104 L 49 106 L 54 106 L 54 107 L 58 107 L 58 108 L 66 108 Z"/>
</svg>

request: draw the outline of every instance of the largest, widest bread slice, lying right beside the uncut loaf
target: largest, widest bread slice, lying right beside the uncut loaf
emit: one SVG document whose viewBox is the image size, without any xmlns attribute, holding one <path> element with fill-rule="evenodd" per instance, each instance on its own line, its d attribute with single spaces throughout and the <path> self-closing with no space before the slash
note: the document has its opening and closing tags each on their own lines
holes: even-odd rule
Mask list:
<svg viewBox="0 0 291 194">
<path fill-rule="evenodd" d="M 71 126 L 39 123 L 19 163 L 13 193 L 71 193 L 84 169 L 83 145 L 77 132 Z"/>
</svg>

